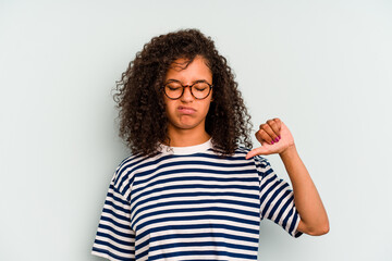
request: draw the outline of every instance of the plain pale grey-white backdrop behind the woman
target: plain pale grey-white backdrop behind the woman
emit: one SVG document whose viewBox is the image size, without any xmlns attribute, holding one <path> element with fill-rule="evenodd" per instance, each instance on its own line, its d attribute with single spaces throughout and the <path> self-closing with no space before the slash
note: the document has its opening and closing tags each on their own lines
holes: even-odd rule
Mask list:
<svg viewBox="0 0 392 261">
<path fill-rule="evenodd" d="M 321 237 L 264 221 L 259 260 L 392 260 L 388 0 L 0 0 L 0 260 L 101 260 L 98 220 L 130 153 L 112 89 L 151 37 L 180 28 L 215 40 L 254 130 L 287 125 L 328 211 Z"/>
</svg>

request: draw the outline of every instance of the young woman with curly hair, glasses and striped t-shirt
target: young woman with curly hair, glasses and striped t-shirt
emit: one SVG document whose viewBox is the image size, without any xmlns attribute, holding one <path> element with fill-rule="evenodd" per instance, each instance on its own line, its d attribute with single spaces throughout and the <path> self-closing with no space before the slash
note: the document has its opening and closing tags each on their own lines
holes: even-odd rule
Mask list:
<svg viewBox="0 0 392 261">
<path fill-rule="evenodd" d="M 132 154 L 118 166 L 93 253 L 109 260 L 257 260 L 259 222 L 322 235 L 329 222 L 280 119 L 256 133 L 237 83 L 197 29 L 155 37 L 114 96 Z M 264 154 L 279 153 L 293 184 Z"/>
</svg>

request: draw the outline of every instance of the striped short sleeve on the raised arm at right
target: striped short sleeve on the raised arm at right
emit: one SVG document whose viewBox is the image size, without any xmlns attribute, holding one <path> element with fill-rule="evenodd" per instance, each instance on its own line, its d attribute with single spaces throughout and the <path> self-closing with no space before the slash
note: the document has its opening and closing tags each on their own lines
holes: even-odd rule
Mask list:
<svg viewBox="0 0 392 261">
<path fill-rule="evenodd" d="M 299 237 L 303 233 L 297 231 L 301 217 L 293 190 L 277 176 L 267 159 L 257 156 L 255 162 L 259 177 L 260 217 L 271 220 L 291 236 Z"/>
</svg>

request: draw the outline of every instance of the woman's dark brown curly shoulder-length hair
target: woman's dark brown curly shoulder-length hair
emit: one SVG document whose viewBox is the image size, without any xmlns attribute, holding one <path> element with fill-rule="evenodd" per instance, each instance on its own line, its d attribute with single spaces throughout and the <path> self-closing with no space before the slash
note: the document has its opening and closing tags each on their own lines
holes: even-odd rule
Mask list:
<svg viewBox="0 0 392 261">
<path fill-rule="evenodd" d="M 168 140 L 168 115 L 161 86 L 170 65 L 177 59 L 189 64 L 196 55 L 205 59 L 212 73 L 212 99 L 206 116 L 206 132 L 220 156 L 231 156 L 243 144 L 252 148 L 250 115 L 238 84 L 219 54 L 213 40 L 198 29 L 180 29 L 154 37 L 136 53 L 117 83 L 120 137 L 135 154 L 152 156 L 159 142 Z"/>
</svg>

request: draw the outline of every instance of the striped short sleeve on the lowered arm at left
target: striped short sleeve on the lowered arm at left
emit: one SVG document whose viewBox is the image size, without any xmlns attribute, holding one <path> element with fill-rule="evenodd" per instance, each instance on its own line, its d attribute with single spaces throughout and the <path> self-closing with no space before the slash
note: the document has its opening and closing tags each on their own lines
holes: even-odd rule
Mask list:
<svg viewBox="0 0 392 261">
<path fill-rule="evenodd" d="M 114 177 L 106 197 L 91 254 L 115 261 L 135 260 L 135 233 L 131 228 L 131 203 L 114 187 Z"/>
</svg>

